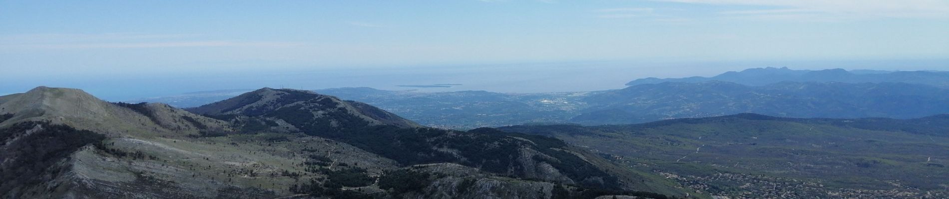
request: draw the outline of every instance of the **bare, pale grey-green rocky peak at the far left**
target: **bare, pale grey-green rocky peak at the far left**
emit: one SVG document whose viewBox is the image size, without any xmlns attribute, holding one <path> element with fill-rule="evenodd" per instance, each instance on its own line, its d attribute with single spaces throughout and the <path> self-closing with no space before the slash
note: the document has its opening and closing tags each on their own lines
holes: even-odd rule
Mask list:
<svg viewBox="0 0 949 199">
<path fill-rule="evenodd" d="M 0 126 L 28 121 L 48 121 L 102 133 L 189 134 L 198 127 L 222 128 L 213 119 L 165 104 L 109 103 L 83 90 L 37 87 L 24 93 L 0 96 Z M 185 122 L 187 117 L 189 121 Z M 130 131 L 128 129 L 137 130 Z M 147 129 L 147 130 L 141 130 Z"/>
</svg>

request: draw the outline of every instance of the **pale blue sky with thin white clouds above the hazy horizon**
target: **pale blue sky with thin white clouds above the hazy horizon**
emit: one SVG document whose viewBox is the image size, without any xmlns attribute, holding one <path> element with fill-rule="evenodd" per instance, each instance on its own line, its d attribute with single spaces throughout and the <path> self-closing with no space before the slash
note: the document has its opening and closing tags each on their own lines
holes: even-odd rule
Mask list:
<svg viewBox="0 0 949 199">
<path fill-rule="evenodd" d="M 946 35 L 949 1 L 940 0 L 0 1 L 0 84 L 16 85 L 0 93 L 47 84 L 104 92 L 140 77 L 605 60 L 886 60 L 896 64 L 879 68 L 929 70 L 949 67 L 939 62 L 949 59 Z"/>
</svg>

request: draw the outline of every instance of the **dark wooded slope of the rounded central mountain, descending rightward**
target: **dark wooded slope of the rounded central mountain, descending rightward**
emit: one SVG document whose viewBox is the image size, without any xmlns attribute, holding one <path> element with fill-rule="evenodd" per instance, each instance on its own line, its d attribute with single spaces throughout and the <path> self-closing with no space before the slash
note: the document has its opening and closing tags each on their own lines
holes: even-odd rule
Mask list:
<svg viewBox="0 0 949 199">
<path fill-rule="evenodd" d="M 622 178 L 611 176 L 614 173 L 603 171 L 604 168 L 610 167 L 605 166 L 610 163 L 600 161 L 598 165 L 595 165 L 589 160 L 578 160 L 578 157 L 595 159 L 597 156 L 578 151 L 581 149 L 570 148 L 562 141 L 543 140 L 540 137 L 525 137 L 516 134 L 505 135 L 506 133 L 501 131 L 486 128 L 462 132 L 423 126 L 361 124 L 358 120 L 346 119 L 348 116 L 345 116 L 345 113 L 353 113 L 353 111 L 333 111 L 331 108 L 365 106 L 370 107 L 369 110 L 372 111 L 382 110 L 371 108 L 363 103 L 334 99 L 336 98 L 316 94 L 313 91 L 265 88 L 189 110 L 211 117 L 229 117 L 232 118 L 231 121 L 238 122 L 275 119 L 278 121 L 274 121 L 274 124 L 288 124 L 290 128 L 299 129 L 300 132 L 309 136 L 353 144 L 368 152 L 396 160 L 401 165 L 449 162 L 493 174 L 565 184 L 605 186 L 612 189 L 626 186 L 637 188 L 651 186 L 657 189 L 663 187 L 659 184 L 633 183 L 631 177 L 636 177 L 635 174 L 624 174 Z M 341 105 L 340 103 L 348 104 Z M 320 111 L 326 111 L 326 115 L 333 115 L 332 118 L 340 120 L 329 121 L 328 124 L 332 125 L 328 126 L 325 121 L 319 120 L 322 116 L 316 116 L 314 118 L 316 120 L 300 120 L 300 118 L 306 118 L 301 117 L 302 115 L 313 112 L 307 108 L 322 108 Z M 228 116 L 234 114 L 238 117 Z M 494 155 L 505 153 L 508 155 L 499 157 Z M 405 154 L 420 156 L 405 156 Z"/>
</svg>

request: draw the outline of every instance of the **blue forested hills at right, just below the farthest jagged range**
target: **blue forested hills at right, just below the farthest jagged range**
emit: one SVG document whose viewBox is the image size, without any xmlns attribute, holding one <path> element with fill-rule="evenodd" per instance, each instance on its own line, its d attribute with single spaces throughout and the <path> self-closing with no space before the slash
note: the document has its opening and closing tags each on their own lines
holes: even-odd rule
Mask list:
<svg viewBox="0 0 949 199">
<path fill-rule="evenodd" d="M 754 112 L 781 117 L 916 118 L 949 113 L 949 90 L 907 83 L 664 82 L 606 91 L 583 99 L 586 113 L 571 122 L 634 124 Z"/>
</svg>

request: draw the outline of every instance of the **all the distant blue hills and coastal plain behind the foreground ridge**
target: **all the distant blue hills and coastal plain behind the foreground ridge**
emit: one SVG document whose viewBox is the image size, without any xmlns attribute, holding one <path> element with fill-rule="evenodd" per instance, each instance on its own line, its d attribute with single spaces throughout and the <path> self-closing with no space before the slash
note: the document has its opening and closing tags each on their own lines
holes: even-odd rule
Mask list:
<svg viewBox="0 0 949 199">
<path fill-rule="evenodd" d="M 849 82 L 849 83 L 848 83 Z M 949 113 L 949 72 L 757 68 L 715 77 L 645 78 L 613 91 L 316 90 L 451 129 L 514 124 L 635 124 L 754 112 L 782 117 L 914 118 Z M 251 90 L 241 90 L 251 91 Z M 206 91 L 130 102 L 196 107 L 235 96 Z"/>
</svg>

